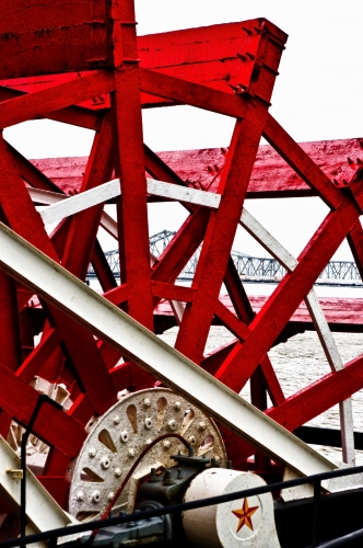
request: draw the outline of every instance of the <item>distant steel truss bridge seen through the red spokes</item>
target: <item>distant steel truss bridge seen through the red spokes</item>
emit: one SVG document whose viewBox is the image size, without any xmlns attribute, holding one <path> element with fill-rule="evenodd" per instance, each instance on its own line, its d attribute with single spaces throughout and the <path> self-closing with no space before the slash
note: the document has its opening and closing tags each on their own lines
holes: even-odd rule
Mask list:
<svg viewBox="0 0 363 548">
<path fill-rule="evenodd" d="M 176 232 L 162 230 L 150 237 L 150 253 L 156 259 L 163 253 Z M 120 278 L 118 250 L 106 251 L 105 256 L 116 278 Z M 279 283 L 285 275 L 285 269 L 272 258 L 250 256 L 239 251 L 232 251 L 231 256 L 235 267 L 246 283 L 273 284 Z M 186 267 L 180 272 L 178 281 L 191 281 L 198 264 L 199 250 L 195 253 Z M 92 267 L 89 269 L 87 279 L 94 279 L 96 274 Z M 330 261 L 319 277 L 316 285 L 333 285 L 347 287 L 362 287 L 362 278 L 353 261 Z"/>
</svg>

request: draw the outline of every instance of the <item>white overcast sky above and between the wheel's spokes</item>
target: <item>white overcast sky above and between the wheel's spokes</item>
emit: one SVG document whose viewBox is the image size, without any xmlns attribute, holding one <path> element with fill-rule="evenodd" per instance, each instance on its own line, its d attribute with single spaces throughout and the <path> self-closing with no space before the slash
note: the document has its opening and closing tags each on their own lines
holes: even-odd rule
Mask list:
<svg viewBox="0 0 363 548">
<path fill-rule="evenodd" d="M 289 34 L 272 96 L 271 113 L 297 140 L 363 135 L 362 0 L 137 0 L 138 33 L 269 19 Z M 144 139 L 154 150 L 227 146 L 233 121 L 187 106 L 144 113 Z M 92 133 L 49 121 L 5 132 L 27 158 L 87 155 Z M 327 213 L 317 198 L 248 202 L 247 208 L 296 255 Z M 150 233 L 176 230 L 180 206 L 152 206 Z M 114 242 L 105 241 L 110 248 Z M 238 235 L 235 248 L 265 254 Z M 337 255 L 350 259 L 347 246 Z"/>
</svg>

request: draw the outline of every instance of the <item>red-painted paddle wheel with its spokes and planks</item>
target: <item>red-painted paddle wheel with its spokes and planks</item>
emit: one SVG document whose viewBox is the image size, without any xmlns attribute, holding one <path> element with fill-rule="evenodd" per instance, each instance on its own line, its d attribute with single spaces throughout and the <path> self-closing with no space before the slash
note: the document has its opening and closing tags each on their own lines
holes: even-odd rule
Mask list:
<svg viewBox="0 0 363 548">
<path fill-rule="evenodd" d="M 149 329 L 171 324 L 165 299 L 185 299 L 177 347 L 235 390 L 250 378 L 253 402 L 295 429 L 307 420 L 306 409 L 311 419 L 363 387 L 359 357 L 285 400 L 267 357 L 272 345 L 312 329 L 301 302 L 344 238 L 363 274 L 362 140 L 298 146 L 271 117 L 286 35 L 269 21 L 137 38 L 132 0 L 112 0 L 109 12 L 105 5 L 14 0 L 0 8 L 0 54 L 7 59 L 0 68 L 0 127 L 45 117 L 95 132 L 90 158 L 30 161 L 1 137 L 0 220 L 83 281 L 92 261 L 105 297 Z M 20 18 L 25 7 L 28 16 Z M 164 104 L 236 118 L 232 142 L 225 149 L 156 156 L 143 145 L 141 109 Z M 262 136 L 269 146 L 258 147 Z M 218 210 L 184 204 L 189 216 L 153 267 L 145 172 L 221 194 Z M 24 186 L 25 181 L 72 194 L 114 175 L 122 180 L 122 197 L 116 199 L 120 287 L 96 238 L 102 207 L 66 219 L 48 236 Z M 319 196 L 330 213 L 272 295 L 248 298 L 230 255 L 244 202 L 288 196 Z M 191 288 L 178 288 L 178 273 L 201 243 Z M 133 364 L 117 366 L 121 356 L 107 342 L 8 275 L 0 275 L 0 432 L 7 435 L 11 418 L 28 422 L 35 375 L 68 387 L 73 400 L 68 413 L 42 414 L 35 426 L 52 447 L 42 480 L 65 504 L 69 457 L 79 450 L 90 418 L 103 413 L 118 390 L 153 386 L 154 379 Z M 227 297 L 220 297 L 223 284 Z M 321 305 L 333 329 L 362 331 L 360 299 L 321 299 Z M 226 326 L 237 341 L 204 356 L 212 322 Z M 253 449 L 224 434 L 234 466 L 245 469 Z M 262 457 L 256 463 L 267 466 Z"/>
</svg>

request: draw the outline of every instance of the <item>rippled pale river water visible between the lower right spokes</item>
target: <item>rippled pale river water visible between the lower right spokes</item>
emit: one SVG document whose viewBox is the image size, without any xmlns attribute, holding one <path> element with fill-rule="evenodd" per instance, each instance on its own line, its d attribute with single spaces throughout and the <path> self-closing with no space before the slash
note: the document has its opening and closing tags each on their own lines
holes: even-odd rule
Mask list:
<svg viewBox="0 0 363 548">
<path fill-rule="evenodd" d="M 174 346 L 177 331 L 178 328 L 173 328 L 160 336 Z M 344 364 L 363 354 L 363 333 L 333 333 L 333 338 Z M 233 335 L 225 328 L 212 327 L 206 354 L 233 339 Z M 330 373 L 330 367 L 315 332 L 305 332 L 291 338 L 286 343 L 273 347 L 269 352 L 269 357 L 285 397 L 297 392 L 300 389 Z M 248 385 L 244 387 L 241 396 L 249 401 Z M 363 390 L 353 395 L 352 403 L 354 430 L 363 432 Z M 307 424 L 340 429 L 338 406 L 329 409 Z M 341 460 L 341 449 L 339 448 L 312 447 L 328 458 Z M 363 465 L 363 450 L 356 452 L 356 464 Z"/>
</svg>

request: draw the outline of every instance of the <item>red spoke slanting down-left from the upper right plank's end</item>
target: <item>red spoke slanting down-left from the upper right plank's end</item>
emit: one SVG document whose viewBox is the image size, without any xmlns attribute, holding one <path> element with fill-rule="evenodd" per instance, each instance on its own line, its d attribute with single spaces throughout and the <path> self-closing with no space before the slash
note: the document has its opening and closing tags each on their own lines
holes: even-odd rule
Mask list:
<svg viewBox="0 0 363 548">
<path fill-rule="evenodd" d="M 220 183 L 222 193 L 220 207 L 218 212 L 211 213 L 194 279 L 194 286 L 198 287 L 198 292 L 194 302 L 186 307 L 176 342 L 177 350 L 196 363 L 202 359 L 215 301 L 224 278 L 266 121 L 265 104 L 248 106 L 250 107 L 244 121 L 236 124 L 226 171 L 223 172 Z M 251 118 L 254 125 L 250 124 Z M 210 273 L 213 273 L 212 276 Z"/>
</svg>

